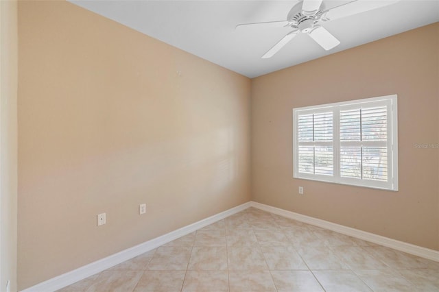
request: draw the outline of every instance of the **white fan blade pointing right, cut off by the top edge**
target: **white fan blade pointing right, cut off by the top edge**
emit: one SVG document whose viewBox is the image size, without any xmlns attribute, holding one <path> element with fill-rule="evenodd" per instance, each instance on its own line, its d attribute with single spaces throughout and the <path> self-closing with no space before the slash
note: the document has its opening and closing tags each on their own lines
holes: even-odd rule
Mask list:
<svg viewBox="0 0 439 292">
<path fill-rule="evenodd" d="M 399 2 L 400 0 L 356 0 L 351 1 L 346 4 L 337 6 L 335 8 L 331 8 L 326 12 L 324 17 L 329 19 L 330 21 L 333 19 L 341 19 L 342 17 L 350 16 L 353 14 L 366 12 L 369 10 L 374 10 L 377 8 L 381 8 L 396 2 Z"/>
</svg>

